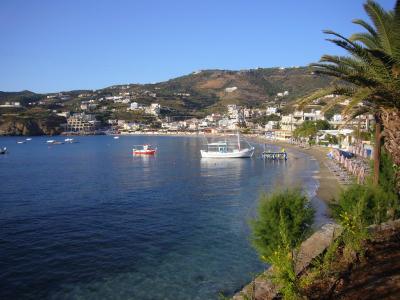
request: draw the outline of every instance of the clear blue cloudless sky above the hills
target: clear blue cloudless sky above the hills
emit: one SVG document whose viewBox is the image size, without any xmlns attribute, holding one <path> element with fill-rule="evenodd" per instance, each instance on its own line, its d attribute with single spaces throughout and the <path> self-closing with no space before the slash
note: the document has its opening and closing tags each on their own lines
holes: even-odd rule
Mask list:
<svg viewBox="0 0 400 300">
<path fill-rule="evenodd" d="M 0 0 L 0 91 L 152 83 L 344 54 L 365 0 Z M 378 0 L 392 9 L 395 0 Z"/>
</svg>

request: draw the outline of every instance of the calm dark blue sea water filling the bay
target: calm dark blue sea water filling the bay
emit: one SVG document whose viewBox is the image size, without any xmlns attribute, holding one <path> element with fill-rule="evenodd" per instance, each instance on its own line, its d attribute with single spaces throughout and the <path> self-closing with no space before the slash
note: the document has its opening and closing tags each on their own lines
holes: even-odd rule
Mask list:
<svg viewBox="0 0 400 300">
<path fill-rule="evenodd" d="M 232 294 L 265 268 L 249 242 L 260 192 L 318 184 L 304 154 L 205 160 L 196 137 L 17 140 L 0 138 L 0 299 Z M 157 155 L 133 157 L 143 143 Z"/>
</svg>

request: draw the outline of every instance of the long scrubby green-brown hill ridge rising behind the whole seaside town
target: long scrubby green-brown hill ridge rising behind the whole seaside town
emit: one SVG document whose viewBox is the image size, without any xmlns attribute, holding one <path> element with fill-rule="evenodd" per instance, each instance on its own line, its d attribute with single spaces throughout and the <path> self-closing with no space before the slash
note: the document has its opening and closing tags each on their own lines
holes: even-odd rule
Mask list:
<svg viewBox="0 0 400 300">
<path fill-rule="evenodd" d="M 330 84 L 331 78 L 315 75 L 307 67 L 202 70 L 165 82 L 116 85 L 95 91 L 74 90 L 53 94 L 0 92 L 0 104 L 20 102 L 21 108 L 28 110 L 39 104 L 44 109 L 75 112 L 80 110 L 82 101 L 123 95 L 143 105 L 157 102 L 163 108 L 163 115 L 203 117 L 210 112 L 225 110 L 227 104 L 247 107 L 262 107 L 267 102 L 290 104 L 299 97 Z M 287 92 L 284 96 L 277 96 L 285 91 Z M 109 111 L 126 111 L 126 105 L 102 105 L 107 105 Z M 14 111 L 0 109 L 0 115 L 2 113 Z"/>
</svg>

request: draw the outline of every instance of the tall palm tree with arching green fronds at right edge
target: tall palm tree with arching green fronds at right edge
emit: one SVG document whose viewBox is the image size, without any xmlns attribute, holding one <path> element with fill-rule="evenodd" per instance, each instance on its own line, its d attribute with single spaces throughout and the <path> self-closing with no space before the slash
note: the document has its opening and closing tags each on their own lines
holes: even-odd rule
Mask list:
<svg viewBox="0 0 400 300">
<path fill-rule="evenodd" d="M 350 99 L 343 111 L 347 119 L 363 113 L 375 117 L 374 182 L 379 181 L 381 138 L 393 161 L 400 165 L 400 0 L 393 11 L 385 11 L 378 3 L 368 0 L 364 9 L 372 25 L 364 20 L 353 23 L 366 32 L 346 38 L 327 30 L 328 41 L 345 49 L 350 56 L 324 55 L 312 64 L 315 72 L 337 78 L 330 88 L 302 99 L 301 105 L 328 94 L 335 94 L 326 109 L 343 99 Z M 383 134 L 381 127 L 383 126 Z"/>
</svg>

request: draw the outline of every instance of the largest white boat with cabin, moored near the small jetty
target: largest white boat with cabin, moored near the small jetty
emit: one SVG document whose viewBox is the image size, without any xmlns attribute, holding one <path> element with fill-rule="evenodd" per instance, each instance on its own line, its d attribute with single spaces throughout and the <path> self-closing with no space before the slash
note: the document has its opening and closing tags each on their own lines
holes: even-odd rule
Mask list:
<svg viewBox="0 0 400 300">
<path fill-rule="evenodd" d="M 220 141 L 207 144 L 207 150 L 200 150 L 204 158 L 247 158 L 254 154 L 254 147 L 247 141 L 245 148 L 241 147 L 240 136 L 237 134 L 237 142 L 231 144 L 228 141 Z"/>
</svg>

